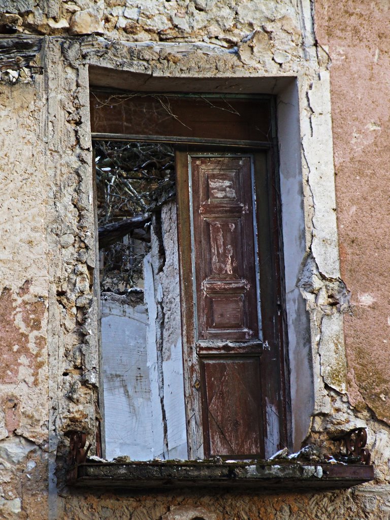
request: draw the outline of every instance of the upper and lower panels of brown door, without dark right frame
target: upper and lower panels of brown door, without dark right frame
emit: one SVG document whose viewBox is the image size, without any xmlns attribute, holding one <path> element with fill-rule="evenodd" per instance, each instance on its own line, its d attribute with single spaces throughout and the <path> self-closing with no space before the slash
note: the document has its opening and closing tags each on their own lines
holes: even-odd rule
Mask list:
<svg viewBox="0 0 390 520">
<path fill-rule="evenodd" d="M 181 254 L 182 261 L 189 258 L 183 247 L 190 247 L 191 267 L 183 267 L 182 280 L 184 305 L 188 310 L 192 291 L 194 311 L 184 312 L 184 332 L 192 343 L 187 344 L 188 380 L 201 400 L 203 439 L 198 443 L 203 441 L 205 457 L 264 457 L 253 157 L 178 155 L 177 166 L 188 172 L 189 183 L 190 222 L 184 227 L 191 238 L 181 244 Z M 179 193 L 179 209 L 180 199 L 183 203 L 184 193 Z M 196 396 L 190 397 L 193 387 L 188 393 L 190 405 L 197 408 Z"/>
</svg>

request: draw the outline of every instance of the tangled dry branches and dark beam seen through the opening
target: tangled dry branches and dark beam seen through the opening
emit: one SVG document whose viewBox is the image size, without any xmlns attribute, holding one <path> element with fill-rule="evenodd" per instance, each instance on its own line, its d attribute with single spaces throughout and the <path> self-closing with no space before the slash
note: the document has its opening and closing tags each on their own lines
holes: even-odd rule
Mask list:
<svg viewBox="0 0 390 520">
<path fill-rule="evenodd" d="M 120 293 L 142 278 L 150 214 L 175 197 L 172 146 L 98 141 L 96 186 L 101 290 Z"/>
</svg>

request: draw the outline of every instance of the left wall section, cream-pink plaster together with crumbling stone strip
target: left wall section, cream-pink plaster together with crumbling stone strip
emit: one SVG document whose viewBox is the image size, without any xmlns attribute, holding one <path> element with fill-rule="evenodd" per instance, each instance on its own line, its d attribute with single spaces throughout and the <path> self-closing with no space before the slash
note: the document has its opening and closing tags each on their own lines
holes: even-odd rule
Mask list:
<svg viewBox="0 0 390 520">
<path fill-rule="evenodd" d="M 3 72 L 1 85 L 4 518 L 56 518 L 59 432 L 96 428 L 92 155 L 77 125 L 87 72 L 42 45 L 33 74 L 12 84 Z"/>
</svg>

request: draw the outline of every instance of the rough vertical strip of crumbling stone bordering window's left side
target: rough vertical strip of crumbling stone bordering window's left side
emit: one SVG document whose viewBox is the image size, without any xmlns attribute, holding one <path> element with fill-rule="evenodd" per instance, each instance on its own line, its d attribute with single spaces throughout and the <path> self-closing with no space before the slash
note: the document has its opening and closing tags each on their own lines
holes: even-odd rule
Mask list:
<svg viewBox="0 0 390 520">
<path fill-rule="evenodd" d="M 88 99 L 83 93 L 87 78 L 85 70 L 74 69 L 61 59 L 58 46 L 49 42 L 45 49 L 47 126 L 43 133 L 47 139 L 46 168 L 50 173 L 49 355 L 53 363 L 50 381 L 55 385 L 50 394 L 56 401 L 51 425 L 56 431 L 86 431 L 93 441 L 99 361 L 97 304 L 92 292 L 92 150 L 90 139 L 80 127 L 88 113 Z"/>
</svg>

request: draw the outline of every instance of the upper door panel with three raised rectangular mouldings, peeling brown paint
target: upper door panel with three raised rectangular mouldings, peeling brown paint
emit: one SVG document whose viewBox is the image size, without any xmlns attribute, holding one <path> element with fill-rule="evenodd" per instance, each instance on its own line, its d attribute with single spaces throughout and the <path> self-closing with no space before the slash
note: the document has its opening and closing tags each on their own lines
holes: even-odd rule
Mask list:
<svg viewBox="0 0 390 520">
<path fill-rule="evenodd" d="M 250 157 L 191 159 L 199 340 L 258 339 Z"/>
</svg>

